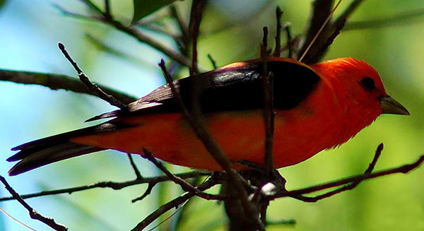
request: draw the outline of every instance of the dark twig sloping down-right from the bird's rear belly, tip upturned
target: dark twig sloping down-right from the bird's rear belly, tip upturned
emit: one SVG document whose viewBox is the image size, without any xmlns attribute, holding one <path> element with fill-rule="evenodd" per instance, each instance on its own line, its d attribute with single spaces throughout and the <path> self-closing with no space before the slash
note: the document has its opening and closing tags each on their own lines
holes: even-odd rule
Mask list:
<svg viewBox="0 0 424 231">
<path fill-rule="evenodd" d="M 172 174 L 169 170 L 167 170 L 167 168 L 165 166 L 163 166 L 163 164 L 161 162 L 156 160 L 153 157 L 151 151 L 147 150 L 146 148 L 143 148 L 142 157 L 146 158 L 147 160 L 152 162 L 153 165 L 155 165 L 156 167 L 158 167 L 158 169 L 160 169 L 163 173 L 165 173 L 165 175 L 170 180 L 172 180 L 172 182 L 175 182 L 175 184 L 178 184 L 179 186 L 181 186 L 181 188 L 184 191 L 192 192 L 196 196 L 199 196 L 200 198 L 206 199 L 206 200 L 223 200 L 223 199 L 226 198 L 226 196 L 223 196 L 223 195 L 206 194 L 206 193 L 200 191 L 199 189 L 197 189 L 196 187 L 192 186 L 191 184 L 185 182 L 184 179 L 181 179 L 181 178 L 175 176 L 175 174 Z"/>
</svg>

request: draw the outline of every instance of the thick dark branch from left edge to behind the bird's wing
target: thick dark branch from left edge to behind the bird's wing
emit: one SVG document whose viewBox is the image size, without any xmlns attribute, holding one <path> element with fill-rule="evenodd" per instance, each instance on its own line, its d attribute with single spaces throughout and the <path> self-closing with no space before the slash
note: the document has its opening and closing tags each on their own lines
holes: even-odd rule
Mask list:
<svg viewBox="0 0 424 231">
<path fill-rule="evenodd" d="M 97 96 L 95 93 L 88 90 L 86 85 L 81 83 L 78 78 L 59 74 L 39 73 L 31 71 L 11 71 L 0 69 L 0 81 L 9 81 L 13 83 L 23 83 L 30 85 L 42 85 L 52 90 L 70 90 L 74 93 L 83 93 L 87 95 Z M 105 90 L 105 93 L 113 95 L 115 98 L 117 98 L 117 100 L 126 104 L 137 100 L 136 97 L 127 95 L 126 93 L 122 93 L 119 90 L 109 88 L 105 85 L 98 86 Z"/>
</svg>

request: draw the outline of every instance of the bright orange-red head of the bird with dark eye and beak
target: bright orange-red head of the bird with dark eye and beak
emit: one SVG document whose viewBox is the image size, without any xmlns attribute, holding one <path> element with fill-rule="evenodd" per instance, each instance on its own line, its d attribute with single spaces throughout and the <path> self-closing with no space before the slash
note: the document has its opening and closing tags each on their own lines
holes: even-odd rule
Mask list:
<svg viewBox="0 0 424 231">
<path fill-rule="evenodd" d="M 355 107 L 374 114 L 409 114 L 399 102 L 387 95 L 379 74 L 365 61 L 339 58 L 311 66 L 338 95 Z"/>
</svg>

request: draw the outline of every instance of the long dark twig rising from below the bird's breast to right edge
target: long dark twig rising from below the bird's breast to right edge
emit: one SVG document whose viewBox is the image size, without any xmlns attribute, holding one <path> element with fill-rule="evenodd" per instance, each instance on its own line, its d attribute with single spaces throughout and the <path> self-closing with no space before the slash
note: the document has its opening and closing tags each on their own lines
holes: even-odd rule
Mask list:
<svg viewBox="0 0 424 231">
<path fill-rule="evenodd" d="M 325 184 L 318 184 L 318 185 L 315 185 L 315 186 L 309 186 L 309 187 L 306 187 L 306 188 L 303 188 L 303 189 L 296 189 L 296 190 L 292 190 L 292 191 L 283 191 L 283 192 L 276 194 L 276 195 L 273 195 L 273 196 L 267 196 L 266 199 L 273 200 L 273 199 L 277 199 L 277 198 L 281 198 L 281 197 L 287 197 L 287 196 L 291 197 L 291 196 L 298 196 L 298 195 L 302 195 L 302 194 L 310 194 L 314 191 L 331 189 L 331 188 L 334 188 L 336 186 L 341 186 L 341 185 L 344 185 L 344 184 L 363 181 L 365 179 L 373 179 L 373 178 L 377 178 L 377 177 L 382 177 L 382 176 L 389 175 L 389 174 L 396 174 L 396 173 L 406 174 L 406 173 L 408 173 L 412 170 L 415 170 L 423 162 L 424 162 L 424 155 L 421 155 L 420 158 L 418 158 L 418 160 L 416 160 L 415 162 L 412 162 L 411 164 L 401 165 L 399 167 L 390 168 L 389 170 L 382 170 L 382 171 L 375 172 L 375 173 L 372 173 L 372 174 L 360 174 L 360 175 L 353 176 L 353 177 L 338 179 L 338 180 L 335 180 L 333 182 L 328 182 L 328 183 L 325 183 Z"/>
</svg>

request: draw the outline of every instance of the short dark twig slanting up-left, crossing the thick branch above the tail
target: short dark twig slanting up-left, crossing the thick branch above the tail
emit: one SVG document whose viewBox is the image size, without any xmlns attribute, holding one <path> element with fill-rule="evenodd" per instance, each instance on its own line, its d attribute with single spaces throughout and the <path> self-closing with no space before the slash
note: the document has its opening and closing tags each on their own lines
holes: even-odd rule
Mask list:
<svg viewBox="0 0 424 231">
<path fill-rule="evenodd" d="M 73 68 L 78 73 L 78 77 L 80 78 L 81 82 L 86 84 L 88 90 L 90 90 L 93 93 L 95 93 L 96 95 L 98 95 L 98 97 L 100 97 L 102 100 L 109 102 L 110 105 L 112 105 L 112 106 L 119 107 L 119 108 L 126 107 L 126 105 L 124 103 L 119 102 L 112 95 L 107 95 L 102 89 L 100 89 L 98 87 L 98 85 L 95 85 L 95 83 L 91 82 L 90 79 L 88 78 L 88 76 L 86 76 L 86 74 L 83 73 L 83 71 L 79 68 L 78 64 L 76 64 L 76 62 L 73 61 L 73 59 L 71 58 L 69 53 L 66 51 L 65 46 L 63 44 L 61 44 L 60 42 L 59 42 L 59 49 L 64 54 L 66 59 L 68 59 L 68 61 L 72 64 Z"/>
</svg>

